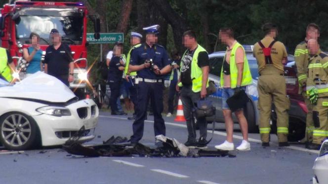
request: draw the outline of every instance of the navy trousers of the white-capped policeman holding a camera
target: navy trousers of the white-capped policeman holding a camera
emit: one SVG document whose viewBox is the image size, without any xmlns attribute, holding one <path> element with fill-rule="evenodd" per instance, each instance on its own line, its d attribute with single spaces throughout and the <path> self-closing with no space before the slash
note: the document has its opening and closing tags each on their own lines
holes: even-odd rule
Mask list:
<svg viewBox="0 0 328 184">
<path fill-rule="evenodd" d="M 155 136 L 165 136 L 165 124 L 162 117 L 163 111 L 163 82 L 142 82 L 139 81 L 137 85 L 137 103 L 136 103 L 136 117 L 132 125 L 133 135 L 130 142 L 137 143 L 141 140 L 144 131 L 144 121 L 147 117 L 147 105 L 149 100 L 152 102 L 154 111 L 154 132 Z"/>
</svg>

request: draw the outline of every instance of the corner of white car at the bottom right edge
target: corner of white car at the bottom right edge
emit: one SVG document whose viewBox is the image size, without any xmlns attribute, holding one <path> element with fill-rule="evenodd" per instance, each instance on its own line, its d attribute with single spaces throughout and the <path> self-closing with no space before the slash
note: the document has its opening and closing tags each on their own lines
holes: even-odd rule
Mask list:
<svg viewBox="0 0 328 184">
<path fill-rule="evenodd" d="M 327 184 L 328 182 L 328 140 L 321 145 L 319 155 L 314 161 L 313 184 Z"/>
</svg>

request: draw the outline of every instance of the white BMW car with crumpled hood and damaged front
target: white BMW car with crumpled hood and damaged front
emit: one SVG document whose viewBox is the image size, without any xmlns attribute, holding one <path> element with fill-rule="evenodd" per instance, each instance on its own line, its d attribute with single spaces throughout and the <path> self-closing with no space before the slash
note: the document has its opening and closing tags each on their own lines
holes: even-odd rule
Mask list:
<svg viewBox="0 0 328 184">
<path fill-rule="evenodd" d="M 60 80 L 38 72 L 14 85 L 0 79 L 0 143 L 7 149 L 64 144 L 84 126 L 92 140 L 98 107 L 79 100 Z"/>
</svg>

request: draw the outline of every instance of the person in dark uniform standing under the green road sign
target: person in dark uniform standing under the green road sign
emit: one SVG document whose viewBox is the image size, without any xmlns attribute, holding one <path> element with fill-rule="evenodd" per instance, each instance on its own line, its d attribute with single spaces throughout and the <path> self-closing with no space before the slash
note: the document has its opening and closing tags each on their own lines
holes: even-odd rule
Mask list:
<svg viewBox="0 0 328 184">
<path fill-rule="evenodd" d="M 110 105 L 112 115 L 124 115 L 124 112 L 119 112 L 117 107 L 117 99 L 120 96 L 120 89 L 122 85 L 122 74 L 124 71 L 124 63 L 122 58 L 122 48 L 115 45 L 113 49 L 113 57 L 109 63 L 108 83 L 111 88 Z"/>
</svg>

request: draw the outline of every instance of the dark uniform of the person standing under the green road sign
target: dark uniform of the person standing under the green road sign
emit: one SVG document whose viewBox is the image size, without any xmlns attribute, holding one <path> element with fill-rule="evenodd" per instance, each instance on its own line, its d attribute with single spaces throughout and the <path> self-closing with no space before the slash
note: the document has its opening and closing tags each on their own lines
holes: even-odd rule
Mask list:
<svg viewBox="0 0 328 184">
<path fill-rule="evenodd" d="M 118 112 L 117 99 L 120 97 L 120 89 L 122 85 L 123 71 L 119 70 L 121 67 L 121 57 L 113 56 L 109 63 L 108 84 L 111 89 L 110 105 L 112 114 Z"/>
</svg>

